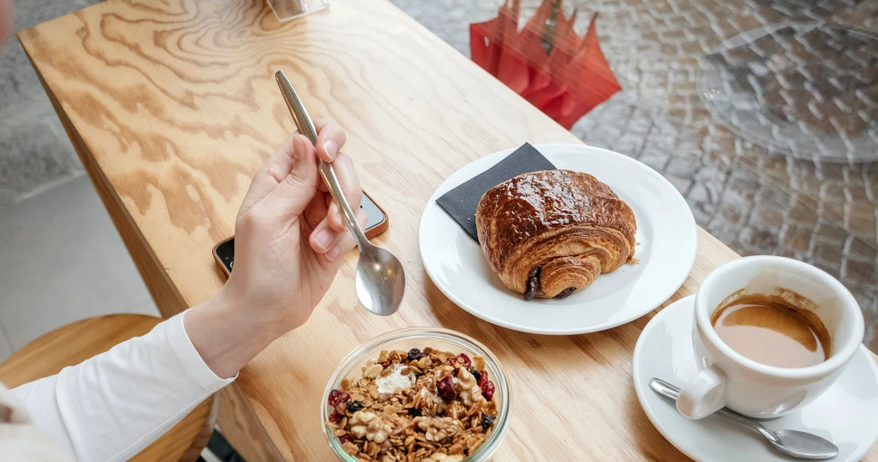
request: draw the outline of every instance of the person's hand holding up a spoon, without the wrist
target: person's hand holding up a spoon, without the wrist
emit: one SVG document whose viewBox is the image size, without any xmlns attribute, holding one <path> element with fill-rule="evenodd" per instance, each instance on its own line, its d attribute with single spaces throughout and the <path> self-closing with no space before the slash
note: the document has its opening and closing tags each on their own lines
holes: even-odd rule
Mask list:
<svg viewBox="0 0 878 462">
<path fill-rule="evenodd" d="M 317 149 L 293 135 L 255 174 L 235 222 L 234 271 L 224 291 L 251 316 L 289 331 L 306 322 L 354 247 L 341 210 L 320 178 L 331 162 L 361 226 L 363 196 L 353 162 L 340 153 L 338 124 L 315 120 Z M 318 159 L 318 157 L 320 159 Z"/>
</svg>

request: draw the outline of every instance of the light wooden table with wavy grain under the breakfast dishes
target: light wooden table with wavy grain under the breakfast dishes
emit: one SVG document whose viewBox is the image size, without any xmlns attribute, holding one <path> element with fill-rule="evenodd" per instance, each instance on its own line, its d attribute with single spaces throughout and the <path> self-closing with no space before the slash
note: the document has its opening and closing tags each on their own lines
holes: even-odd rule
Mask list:
<svg viewBox="0 0 878 462">
<path fill-rule="evenodd" d="M 363 188 L 389 214 L 377 241 L 406 266 L 407 297 L 389 318 L 358 307 L 349 256 L 311 320 L 236 381 L 231 393 L 246 400 L 219 424 L 248 460 L 331 460 L 319 413 L 331 371 L 356 345 L 413 325 L 462 331 L 499 356 L 515 396 L 495 460 L 683 458 L 631 385 L 651 316 L 570 337 L 508 331 L 457 308 L 425 275 L 418 222 L 444 178 L 525 141 L 580 141 L 391 4 L 333 0 L 280 25 L 263 0 L 107 0 L 19 38 L 165 316 L 223 284 L 212 245 L 233 233 L 251 175 L 294 130 L 275 71 L 314 117 L 347 130 Z M 699 231 L 694 269 L 671 301 L 736 257 Z M 247 426 L 250 410 L 258 424 Z M 269 449 L 248 442 L 260 426 Z"/>
</svg>

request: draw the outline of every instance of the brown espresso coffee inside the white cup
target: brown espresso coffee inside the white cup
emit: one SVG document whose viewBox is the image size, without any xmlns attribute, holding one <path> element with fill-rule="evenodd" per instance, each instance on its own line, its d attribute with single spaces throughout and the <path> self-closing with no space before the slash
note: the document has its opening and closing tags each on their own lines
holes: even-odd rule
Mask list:
<svg viewBox="0 0 878 462">
<path fill-rule="evenodd" d="M 740 295 L 710 316 L 732 350 L 766 366 L 807 367 L 829 359 L 829 331 L 813 312 L 777 295 Z"/>
</svg>

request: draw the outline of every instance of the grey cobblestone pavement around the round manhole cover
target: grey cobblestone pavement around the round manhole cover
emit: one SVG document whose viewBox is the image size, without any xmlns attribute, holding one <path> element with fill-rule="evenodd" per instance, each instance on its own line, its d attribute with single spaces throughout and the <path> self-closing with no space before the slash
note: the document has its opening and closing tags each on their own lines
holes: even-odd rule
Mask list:
<svg viewBox="0 0 878 462">
<path fill-rule="evenodd" d="M 469 55 L 468 24 L 499 1 L 392 0 Z M 522 19 L 539 0 L 523 0 Z M 601 47 L 623 91 L 575 124 L 593 146 L 635 157 L 686 196 L 698 224 L 735 251 L 801 259 L 850 288 L 878 352 L 878 164 L 798 160 L 754 145 L 711 117 L 699 60 L 740 32 L 794 21 L 878 31 L 878 0 L 568 0 L 584 32 L 600 13 Z M 585 14 L 584 14 L 585 13 Z"/>
</svg>

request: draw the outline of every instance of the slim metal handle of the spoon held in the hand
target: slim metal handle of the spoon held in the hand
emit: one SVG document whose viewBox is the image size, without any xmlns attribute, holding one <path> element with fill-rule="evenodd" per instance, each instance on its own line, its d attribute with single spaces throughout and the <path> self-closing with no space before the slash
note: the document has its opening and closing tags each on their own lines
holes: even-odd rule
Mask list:
<svg viewBox="0 0 878 462">
<path fill-rule="evenodd" d="M 317 146 L 317 129 L 314 128 L 314 123 L 311 120 L 311 117 L 308 116 L 308 111 L 305 110 L 305 105 L 302 104 L 302 100 L 299 99 L 296 90 L 292 88 L 292 84 L 289 79 L 286 78 L 286 75 L 284 75 L 284 71 L 277 71 L 275 73 L 275 79 L 277 80 L 277 85 L 280 87 L 281 93 L 284 95 L 286 107 L 289 108 L 290 113 L 292 114 L 292 119 L 296 122 L 296 128 L 299 129 L 299 133 L 305 135 L 311 140 L 311 143 L 314 146 Z M 350 210 L 348 200 L 345 199 L 344 193 L 342 192 L 342 185 L 338 182 L 338 177 L 335 176 L 335 169 L 333 169 L 332 165 L 320 160 L 320 176 L 322 176 L 323 181 L 327 183 L 329 193 L 332 195 L 332 198 L 335 199 L 338 208 L 342 210 L 344 222 L 348 225 L 350 233 L 354 235 L 356 245 L 362 249 L 363 244 L 369 242 L 369 239 L 366 238 L 363 229 L 360 228 L 360 224 L 357 223 L 354 211 Z"/>
</svg>

